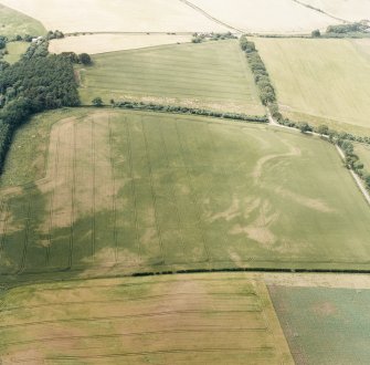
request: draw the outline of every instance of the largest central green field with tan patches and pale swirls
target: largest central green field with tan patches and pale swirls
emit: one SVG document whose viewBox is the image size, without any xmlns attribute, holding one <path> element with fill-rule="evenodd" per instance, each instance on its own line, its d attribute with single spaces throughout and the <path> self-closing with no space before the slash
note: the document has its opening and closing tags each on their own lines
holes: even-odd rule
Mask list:
<svg viewBox="0 0 370 365">
<path fill-rule="evenodd" d="M 2 177 L 2 280 L 369 269 L 370 210 L 328 143 L 190 115 L 77 111 L 17 133 Z"/>
</svg>

